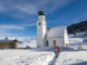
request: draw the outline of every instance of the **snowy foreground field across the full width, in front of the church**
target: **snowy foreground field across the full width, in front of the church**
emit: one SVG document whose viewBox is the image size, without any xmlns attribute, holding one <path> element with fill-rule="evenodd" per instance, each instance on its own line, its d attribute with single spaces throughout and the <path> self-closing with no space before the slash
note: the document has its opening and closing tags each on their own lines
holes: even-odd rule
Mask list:
<svg viewBox="0 0 87 65">
<path fill-rule="evenodd" d="M 47 50 L 47 51 L 45 51 Z M 0 50 L 0 65 L 86 65 L 87 51 L 61 49 L 58 58 L 53 49 Z"/>
</svg>

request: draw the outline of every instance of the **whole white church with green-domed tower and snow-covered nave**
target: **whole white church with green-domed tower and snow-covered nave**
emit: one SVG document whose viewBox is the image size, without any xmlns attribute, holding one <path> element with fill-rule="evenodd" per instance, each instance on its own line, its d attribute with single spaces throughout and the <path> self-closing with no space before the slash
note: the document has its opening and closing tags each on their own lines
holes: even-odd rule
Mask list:
<svg viewBox="0 0 87 65">
<path fill-rule="evenodd" d="M 47 28 L 46 16 L 42 10 L 38 12 L 37 21 L 37 48 L 65 47 L 69 44 L 66 26 Z"/>
</svg>

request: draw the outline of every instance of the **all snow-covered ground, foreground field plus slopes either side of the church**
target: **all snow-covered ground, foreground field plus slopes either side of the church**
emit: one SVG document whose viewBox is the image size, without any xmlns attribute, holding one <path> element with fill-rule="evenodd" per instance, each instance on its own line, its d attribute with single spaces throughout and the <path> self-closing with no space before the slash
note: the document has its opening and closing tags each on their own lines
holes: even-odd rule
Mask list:
<svg viewBox="0 0 87 65">
<path fill-rule="evenodd" d="M 0 65 L 87 65 L 86 42 L 86 38 L 70 36 L 70 48 L 62 48 L 59 57 L 55 58 L 53 49 L 36 49 L 36 40 L 25 41 L 18 43 L 17 48 L 28 46 L 33 49 L 0 50 Z M 80 49 L 72 48 L 79 44 Z"/>
</svg>

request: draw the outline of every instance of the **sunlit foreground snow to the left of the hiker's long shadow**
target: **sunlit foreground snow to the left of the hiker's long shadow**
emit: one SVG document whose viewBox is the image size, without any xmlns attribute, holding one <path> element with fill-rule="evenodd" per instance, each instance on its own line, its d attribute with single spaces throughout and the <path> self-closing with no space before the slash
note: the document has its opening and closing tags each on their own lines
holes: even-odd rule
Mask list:
<svg viewBox="0 0 87 65">
<path fill-rule="evenodd" d="M 1 50 L 0 65 L 46 65 L 52 54 L 38 50 Z"/>
</svg>

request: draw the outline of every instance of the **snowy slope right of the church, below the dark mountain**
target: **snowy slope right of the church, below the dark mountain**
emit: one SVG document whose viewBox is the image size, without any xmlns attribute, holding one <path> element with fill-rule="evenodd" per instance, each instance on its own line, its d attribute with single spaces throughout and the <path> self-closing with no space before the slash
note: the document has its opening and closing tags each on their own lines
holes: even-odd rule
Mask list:
<svg viewBox="0 0 87 65">
<path fill-rule="evenodd" d="M 69 43 L 70 47 L 73 49 L 78 49 L 80 47 L 80 49 L 87 49 L 87 38 L 84 38 L 84 31 L 83 32 L 78 32 L 76 34 L 76 36 L 74 35 L 70 35 L 69 36 Z"/>
</svg>

